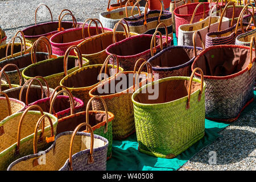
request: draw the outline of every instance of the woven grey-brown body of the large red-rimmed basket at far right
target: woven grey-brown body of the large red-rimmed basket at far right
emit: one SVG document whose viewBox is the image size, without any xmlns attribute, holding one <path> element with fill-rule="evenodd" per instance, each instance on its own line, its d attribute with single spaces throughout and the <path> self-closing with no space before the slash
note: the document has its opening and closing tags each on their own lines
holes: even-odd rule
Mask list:
<svg viewBox="0 0 256 182">
<path fill-rule="evenodd" d="M 222 46 L 221 48 L 235 49 L 237 47 L 238 46 Z M 210 49 L 210 47 L 205 49 L 197 58 L 211 54 Z M 240 49 L 246 49 L 246 47 L 241 47 Z M 237 55 L 234 55 L 234 57 L 236 56 Z M 192 64 L 192 69 L 197 65 L 197 58 Z M 203 67 L 203 65 L 201 66 Z M 197 67 L 199 66 L 197 65 Z M 204 75 L 204 80 L 207 85 L 205 88 L 205 117 L 216 121 L 236 121 L 241 111 L 254 99 L 255 68 L 255 61 L 253 60 L 250 71 L 248 71 L 246 67 L 242 71 L 226 77 L 209 77 Z M 195 77 L 199 76 L 195 75 Z"/>
</svg>

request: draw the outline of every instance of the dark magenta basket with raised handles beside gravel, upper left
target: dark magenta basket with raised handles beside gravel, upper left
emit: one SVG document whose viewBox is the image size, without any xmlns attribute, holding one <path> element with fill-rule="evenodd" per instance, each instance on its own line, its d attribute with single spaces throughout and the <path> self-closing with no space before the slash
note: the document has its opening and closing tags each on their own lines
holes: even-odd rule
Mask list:
<svg viewBox="0 0 256 182">
<path fill-rule="evenodd" d="M 49 13 L 51 15 L 51 22 L 36 24 L 36 13 L 40 6 L 47 7 L 47 9 L 49 10 Z M 69 13 L 65 13 L 64 15 L 61 16 L 61 14 L 64 11 L 68 11 Z M 66 15 L 72 16 L 73 21 L 72 22 L 67 22 L 67 21 L 62 22 L 63 17 Z M 59 20 L 53 22 L 51 10 L 49 9 L 49 7 L 47 5 L 44 5 L 43 3 L 41 3 L 35 10 L 35 25 L 27 27 L 22 31 L 24 32 L 27 42 L 33 44 L 41 36 L 46 36 L 48 39 L 50 39 L 51 36 L 53 36 L 54 34 L 57 34 L 60 31 L 67 30 L 67 29 L 73 28 L 73 27 L 81 27 L 81 26 L 82 26 L 82 23 L 76 22 L 76 18 L 70 10 L 62 10 L 59 15 Z M 39 48 L 41 50 L 43 50 L 43 52 L 47 52 L 47 49 L 46 49 L 46 47 L 44 47 L 44 45 L 39 44 Z"/>
</svg>

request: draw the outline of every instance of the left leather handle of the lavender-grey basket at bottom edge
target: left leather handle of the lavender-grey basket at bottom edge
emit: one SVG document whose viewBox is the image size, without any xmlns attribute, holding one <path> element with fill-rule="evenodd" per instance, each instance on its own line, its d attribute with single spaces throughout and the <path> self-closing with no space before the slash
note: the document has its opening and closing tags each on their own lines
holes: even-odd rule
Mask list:
<svg viewBox="0 0 256 182">
<path fill-rule="evenodd" d="M 52 124 L 52 119 L 51 117 L 49 117 L 49 115 L 42 115 L 39 119 L 38 122 L 36 123 L 36 127 L 35 127 L 35 132 L 34 132 L 34 140 L 33 140 L 33 149 L 34 149 L 34 154 L 38 153 L 38 143 L 40 143 L 43 140 L 43 135 L 44 135 L 44 126 L 45 126 L 45 121 L 44 118 L 48 118 L 50 126 L 51 126 L 51 138 L 54 138 L 54 127 Z M 40 126 L 40 123 L 43 121 L 42 124 L 42 132 L 40 134 L 40 138 L 38 140 L 38 127 Z M 47 137 L 46 137 L 46 141 L 47 141 Z M 47 142 L 48 143 L 48 142 Z"/>
</svg>

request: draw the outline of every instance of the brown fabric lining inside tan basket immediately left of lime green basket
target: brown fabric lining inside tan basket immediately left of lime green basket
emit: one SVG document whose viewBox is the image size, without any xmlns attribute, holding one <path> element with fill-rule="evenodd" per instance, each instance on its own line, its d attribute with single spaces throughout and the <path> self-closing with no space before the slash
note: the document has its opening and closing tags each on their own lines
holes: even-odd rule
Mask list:
<svg viewBox="0 0 256 182">
<path fill-rule="evenodd" d="M 126 78 L 125 85 L 121 85 L 123 82 L 123 75 L 125 75 L 125 78 Z M 141 73 L 139 82 L 142 82 L 146 79 L 147 79 L 147 76 L 144 73 Z M 104 82 L 104 85 L 100 87 L 100 89 L 104 90 L 104 93 L 99 93 L 98 89 L 96 89 L 92 94 L 94 96 L 107 96 L 109 94 L 119 93 L 117 91 L 123 92 L 126 89 L 129 89 L 131 86 L 133 86 L 133 73 L 122 73 L 120 75 L 115 76 L 115 79 L 112 79 L 110 82 L 109 81 Z M 117 90 L 116 88 L 121 90 Z"/>
</svg>

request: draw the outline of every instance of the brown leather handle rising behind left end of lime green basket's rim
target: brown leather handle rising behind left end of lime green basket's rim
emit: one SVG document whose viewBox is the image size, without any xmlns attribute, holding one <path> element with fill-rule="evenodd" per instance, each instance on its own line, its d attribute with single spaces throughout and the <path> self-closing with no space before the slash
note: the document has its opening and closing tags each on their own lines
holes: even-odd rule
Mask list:
<svg viewBox="0 0 256 182">
<path fill-rule="evenodd" d="M 139 61 L 143 60 L 144 62 L 141 64 L 141 66 L 139 67 L 137 76 L 136 76 L 136 82 L 135 82 L 135 72 L 136 72 L 136 65 Z M 152 65 L 150 63 L 148 63 L 145 59 L 140 58 L 137 60 L 137 62 L 135 63 L 135 67 L 134 67 L 134 72 L 133 72 L 133 91 L 137 90 L 138 88 L 136 88 L 136 86 L 139 84 L 138 83 L 138 78 L 139 75 L 142 72 L 142 68 L 144 67 L 144 65 L 147 64 L 147 82 L 151 82 L 154 81 L 154 77 L 152 77 Z"/>
</svg>

